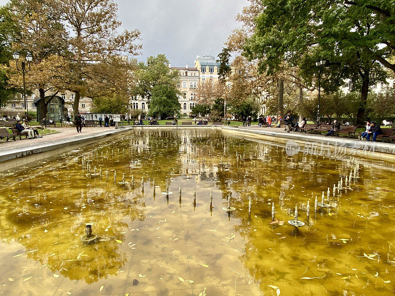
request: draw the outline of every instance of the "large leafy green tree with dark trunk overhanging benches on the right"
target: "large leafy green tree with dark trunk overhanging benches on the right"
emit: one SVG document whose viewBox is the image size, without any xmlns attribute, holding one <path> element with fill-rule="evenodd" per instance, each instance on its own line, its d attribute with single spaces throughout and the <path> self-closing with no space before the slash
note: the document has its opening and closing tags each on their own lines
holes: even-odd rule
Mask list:
<svg viewBox="0 0 395 296">
<path fill-rule="evenodd" d="M 359 5 L 361 2 L 263 0 L 261 13 L 254 19 L 254 34 L 247 38 L 243 54 L 258 59 L 259 69 L 269 74 L 280 69 L 284 61 L 291 67 L 299 66 L 305 82 L 314 77 L 312 65 L 316 60 L 329 59 L 332 67 L 323 75 L 323 89 L 335 91 L 344 79 L 357 79 L 361 85 L 357 123 L 363 124 L 369 86 L 382 79 L 381 75 L 372 75 L 380 68 L 372 48 L 378 49 L 388 31 L 373 30 L 383 22 L 367 6 L 377 1 Z M 385 11 L 394 11 L 394 0 L 380 3 Z M 392 30 L 394 21 L 390 18 L 387 22 Z M 388 48 L 383 53 L 390 54 Z"/>
</svg>

